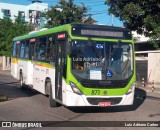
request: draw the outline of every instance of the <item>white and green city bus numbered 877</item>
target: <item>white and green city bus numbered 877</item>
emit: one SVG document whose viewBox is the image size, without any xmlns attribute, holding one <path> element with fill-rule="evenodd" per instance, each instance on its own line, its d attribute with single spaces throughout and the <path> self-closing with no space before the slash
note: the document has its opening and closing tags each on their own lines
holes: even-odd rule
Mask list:
<svg viewBox="0 0 160 130">
<path fill-rule="evenodd" d="M 67 24 L 13 39 L 11 74 L 50 106 L 132 105 L 134 43 L 126 28 Z"/>
</svg>

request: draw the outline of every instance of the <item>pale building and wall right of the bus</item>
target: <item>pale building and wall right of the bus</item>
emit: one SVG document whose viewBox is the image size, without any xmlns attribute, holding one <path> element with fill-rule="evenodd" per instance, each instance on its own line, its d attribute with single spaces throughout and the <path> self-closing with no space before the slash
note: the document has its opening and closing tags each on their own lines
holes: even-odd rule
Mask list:
<svg viewBox="0 0 160 130">
<path fill-rule="evenodd" d="M 135 40 L 136 77 L 137 86 L 151 88 L 152 91 L 160 88 L 160 40 L 152 43 L 149 37 L 132 32 Z"/>
</svg>

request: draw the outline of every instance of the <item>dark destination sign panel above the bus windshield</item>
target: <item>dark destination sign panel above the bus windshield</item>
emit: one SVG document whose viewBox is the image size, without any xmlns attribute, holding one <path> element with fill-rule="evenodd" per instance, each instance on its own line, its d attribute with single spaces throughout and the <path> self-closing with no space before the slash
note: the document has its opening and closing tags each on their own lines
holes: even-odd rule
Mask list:
<svg viewBox="0 0 160 130">
<path fill-rule="evenodd" d="M 112 26 L 73 26 L 72 35 L 80 37 L 101 37 L 126 40 L 132 39 L 132 35 L 129 29 Z"/>
</svg>

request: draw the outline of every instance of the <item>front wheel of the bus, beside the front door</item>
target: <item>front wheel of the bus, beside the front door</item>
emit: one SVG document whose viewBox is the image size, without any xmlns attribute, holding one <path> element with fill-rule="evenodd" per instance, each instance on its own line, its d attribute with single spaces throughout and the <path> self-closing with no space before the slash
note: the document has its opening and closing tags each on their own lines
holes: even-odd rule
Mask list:
<svg viewBox="0 0 160 130">
<path fill-rule="evenodd" d="M 46 88 L 49 89 L 49 102 L 50 107 L 58 107 L 59 104 L 52 98 L 52 85 L 50 81 L 47 81 Z"/>
</svg>

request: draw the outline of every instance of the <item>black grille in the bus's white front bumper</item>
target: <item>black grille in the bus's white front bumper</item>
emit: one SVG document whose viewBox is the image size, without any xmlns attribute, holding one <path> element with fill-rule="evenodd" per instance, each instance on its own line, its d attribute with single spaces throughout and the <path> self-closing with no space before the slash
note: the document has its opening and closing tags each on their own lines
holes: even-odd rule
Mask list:
<svg viewBox="0 0 160 130">
<path fill-rule="evenodd" d="M 121 97 L 114 98 L 87 98 L 87 101 L 92 105 L 98 105 L 99 102 L 111 102 L 111 105 L 120 103 L 122 100 Z"/>
</svg>

